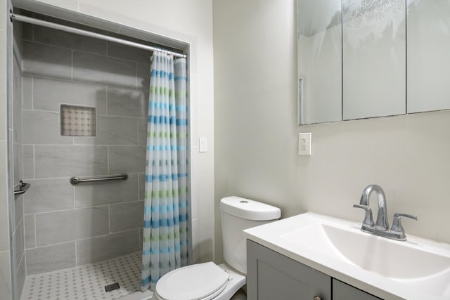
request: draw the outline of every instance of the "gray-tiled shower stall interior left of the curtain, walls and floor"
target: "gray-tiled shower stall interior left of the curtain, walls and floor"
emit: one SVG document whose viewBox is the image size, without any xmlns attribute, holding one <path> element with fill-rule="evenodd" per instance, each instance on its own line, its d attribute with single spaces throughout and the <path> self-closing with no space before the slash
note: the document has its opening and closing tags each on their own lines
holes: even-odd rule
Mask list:
<svg viewBox="0 0 450 300">
<path fill-rule="evenodd" d="M 49 15 L 15 13 L 180 53 L 188 49 L 178 41 L 160 46 L 161 37 L 155 44 Z M 138 292 L 152 51 L 26 22 L 12 27 L 11 169 L 14 181 L 31 185 L 14 200 L 13 299 L 39 299 L 39 287 L 49 299 Z M 113 174 L 128 178 L 69 182 Z M 83 281 L 86 276 L 98 280 Z M 55 278 L 75 283 L 60 285 Z M 105 291 L 116 282 L 120 289 Z"/>
</svg>

